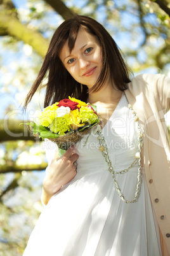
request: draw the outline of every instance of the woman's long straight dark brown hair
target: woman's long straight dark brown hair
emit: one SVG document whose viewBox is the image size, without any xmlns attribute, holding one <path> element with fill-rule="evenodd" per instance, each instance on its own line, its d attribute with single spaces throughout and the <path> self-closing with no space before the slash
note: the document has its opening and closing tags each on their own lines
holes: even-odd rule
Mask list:
<svg viewBox="0 0 170 256">
<path fill-rule="evenodd" d="M 67 39 L 69 50 L 70 52 L 72 51 L 77 33 L 81 27 L 90 34 L 98 37 L 102 49 L 103 66 L 101 74 L 90 90 L 88 90 L 86 85 L 81 85 L 72 78 L 59 57 Z M 42 67 L 25 99 L 23 107 L 27 108 L 27 104 L 30 102 L 32 96 L 34 96 L 47 74 L 48 83 L 46 84 L 44 107 L 69 96 L 74 96 L 77 99 L 81 99 L 81 101 L 87 101 L 89 92 L 100 90 L 107 78 L 108 71 L 110 71 L 111 79 L 114 81 L 118 90 L 123 91 L 128 88 L 127 83 L 131 82 L 129 78 L 129 68 L 124 62 L 112 36 L 110 36 L 106 29 L 93 18 L 76 15 L 74 18 L 65 20 L 53 34 Z"/>
</svg>

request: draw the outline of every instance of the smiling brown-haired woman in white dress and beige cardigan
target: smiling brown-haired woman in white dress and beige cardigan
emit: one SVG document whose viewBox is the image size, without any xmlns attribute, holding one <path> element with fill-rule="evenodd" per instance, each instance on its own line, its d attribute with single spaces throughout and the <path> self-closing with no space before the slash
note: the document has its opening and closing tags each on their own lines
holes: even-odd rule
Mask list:
<svg viewBox="0 0 170 256">
<path fill-rule="evenodd" d="M 56 29 L 25 106 L 47 72 L 44 106 L 74 96 L 103 122 L 60 159 L 45 142 L 46 207 L 23 255 L 169 255 L 169 78 L 131 81 L 114 39 L 83 16 Z"/>
</svg>

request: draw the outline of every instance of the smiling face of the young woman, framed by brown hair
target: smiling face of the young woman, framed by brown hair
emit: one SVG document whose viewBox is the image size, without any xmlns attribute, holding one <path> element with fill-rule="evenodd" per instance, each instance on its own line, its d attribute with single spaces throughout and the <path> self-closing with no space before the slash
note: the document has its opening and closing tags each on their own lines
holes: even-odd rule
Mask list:
<svg viewBox="0 0 170 256">
<path fill-rule="evenodd" d="M 60 59 L 70 75 L 79 83 L 93 87 L 101 73 L 101 46 L 96 36 L 80 29 L 72 52 L 68 41 L 60 52 Z"/>
</svg>

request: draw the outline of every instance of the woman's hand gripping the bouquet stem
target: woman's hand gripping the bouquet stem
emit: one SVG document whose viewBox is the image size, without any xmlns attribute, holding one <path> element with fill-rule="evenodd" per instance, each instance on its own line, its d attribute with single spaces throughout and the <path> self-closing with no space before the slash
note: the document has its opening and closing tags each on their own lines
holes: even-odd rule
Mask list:
<svg viewBox="0 0 170 256">
<path fill-rule="evenodd" d="M 57 156 L 55 156 L 52 160 L 42 185 L 42 201 L 44 204 L 46 204 L 46 202 L 48 203 L 49 199 L 58 192 L 63 185 L 74 178 L 76 174 L 74 162 L 79 158 L 79 155 L 74 152 L 75 146 L 71 146 L 62 157 L 57 159 Z"/>
</svg>

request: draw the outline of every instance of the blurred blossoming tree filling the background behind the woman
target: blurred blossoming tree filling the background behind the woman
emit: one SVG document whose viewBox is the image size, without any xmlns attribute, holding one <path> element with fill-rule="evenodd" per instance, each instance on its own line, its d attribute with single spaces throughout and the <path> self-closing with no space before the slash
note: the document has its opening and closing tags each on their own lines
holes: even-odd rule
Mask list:
<svg viewBox="0 0 170 256">
<path fill-rule="evenodd" d="M 75 13 L 105 25 L 135 74 L 149 71 L 168 75 L 170 71 L 167 0 L 27 0 L 22 9 L 16 0 L 0 0 L 0 97 L 4 106 L 3 112 L 0 110 L 0 250 L 6 255 L 22 255 L 32 222 L 42 209 L 39 185 L 47 165 L 41 141 L 34 141 L 25 126 L 18 125 L 26 122 L 25 117 L 32 116 L 33 110 L 41 110 L 37 99 L 44 91 L 37 93 L 25 115 L 20 104 L 36 78 L 56 27 Z M 7 96 L 10 100 L 5 101 Z M 31 171 L 38 169 L 42 172 Z M 21 224 L 25 229 L 20 235 Z"/>
</svg>

